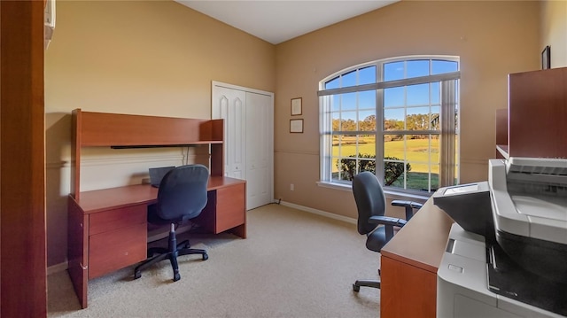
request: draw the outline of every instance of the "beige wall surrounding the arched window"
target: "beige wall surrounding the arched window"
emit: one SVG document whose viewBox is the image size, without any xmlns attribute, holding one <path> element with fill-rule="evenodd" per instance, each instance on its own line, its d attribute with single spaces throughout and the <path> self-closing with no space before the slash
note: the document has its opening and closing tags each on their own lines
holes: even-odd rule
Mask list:
<svg viewBox="0 0 567 318">
<path fill-rule="evenodd" d="M 461 182 L 486 180 L 494 112 L 507 107 L 507 74 L 540 68 L 539 36 L 538 2 L 402 1 L 278 44 L 275 198 L 356 217 L 350 189 L 316 183 L 318 83 L 348 66 L 416 54 L 461 57 Z M 303 98 L 303 134 L 289 133 L 293 97 Z"/>
</svg>

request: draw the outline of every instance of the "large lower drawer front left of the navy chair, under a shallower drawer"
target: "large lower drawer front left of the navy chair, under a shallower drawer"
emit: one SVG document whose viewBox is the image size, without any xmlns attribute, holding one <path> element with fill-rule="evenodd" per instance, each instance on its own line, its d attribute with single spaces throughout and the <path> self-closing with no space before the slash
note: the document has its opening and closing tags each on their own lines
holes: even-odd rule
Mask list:
<svg viewBox="0 0 567 318">
<path fill-rule="evenodd" d="M 145 260 L 146 224 L 106 231 L 89 237 L 89 279 Z"/>
</svg>

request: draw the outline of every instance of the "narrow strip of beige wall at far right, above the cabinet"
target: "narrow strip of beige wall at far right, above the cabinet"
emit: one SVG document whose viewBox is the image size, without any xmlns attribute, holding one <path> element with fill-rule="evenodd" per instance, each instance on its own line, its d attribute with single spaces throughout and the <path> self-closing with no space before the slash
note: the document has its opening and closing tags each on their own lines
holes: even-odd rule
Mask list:
<svg viewBox="0 0 567 318">
<path fill-rule="evenodd" d="M 567 1 L 541 3 L 540 50 L 551 47 L 551 68 L 567 66 Z"/>
</svg>

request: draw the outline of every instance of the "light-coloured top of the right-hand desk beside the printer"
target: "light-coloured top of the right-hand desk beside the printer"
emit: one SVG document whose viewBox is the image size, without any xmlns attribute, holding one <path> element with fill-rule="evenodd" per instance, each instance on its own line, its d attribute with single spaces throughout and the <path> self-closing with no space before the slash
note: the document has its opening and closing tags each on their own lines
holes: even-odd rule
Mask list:
<svg viewBox="0 0 567 318">
<path fill-rule="evenodd" d="M 453 224 L 429 198 L 423 207 L 382 248 L 382 255 L 437 274 Z"/>
</svg>

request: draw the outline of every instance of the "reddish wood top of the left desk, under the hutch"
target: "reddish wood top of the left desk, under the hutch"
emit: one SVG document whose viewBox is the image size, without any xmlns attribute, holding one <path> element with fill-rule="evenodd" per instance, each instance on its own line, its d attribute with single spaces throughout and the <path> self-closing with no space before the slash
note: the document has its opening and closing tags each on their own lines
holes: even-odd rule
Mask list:
<svg viewBox="0 0 567 318">
<path fill-rule="evenodd" d="M 211 176 L 206 190 L 217 190 L 231 184 L 245 183 L 244 180 L 222 176 Z M 149 204 L 158 198 L 158 188 L 150 184 L 128 185 L 118 188 L 81 192 L 75 200 L 84 213 L 97 213 L 112 208 Z"/>
</svg>

